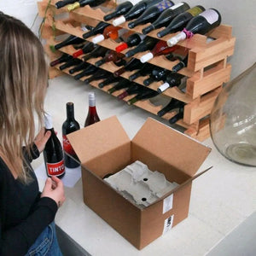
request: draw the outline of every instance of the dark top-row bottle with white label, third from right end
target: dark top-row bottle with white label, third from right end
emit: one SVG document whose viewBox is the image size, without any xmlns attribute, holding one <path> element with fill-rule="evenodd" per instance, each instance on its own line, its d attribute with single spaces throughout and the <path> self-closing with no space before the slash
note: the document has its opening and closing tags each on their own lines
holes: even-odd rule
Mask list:
<svg viewBox="0 0 256 256">
<path fill-rule="evenodd" d="M 184 11 L 188 10 L 189 4 L 188 3 L 177 3 L 172 7 L 165 9 L 160 16 L 154 20 L 149 26 L 143 28 L 143 34 L 148 34 L 152 32 L 154 29 L 168 26 L 170 22 L 179 14 L 182 14 Z"/>
</svg>

